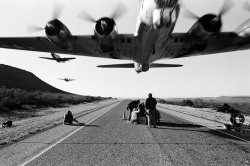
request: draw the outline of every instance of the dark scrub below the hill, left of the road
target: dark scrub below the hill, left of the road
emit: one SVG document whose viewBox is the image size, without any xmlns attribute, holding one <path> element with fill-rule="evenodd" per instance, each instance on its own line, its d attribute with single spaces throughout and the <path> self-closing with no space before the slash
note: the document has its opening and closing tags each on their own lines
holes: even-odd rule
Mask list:
<svg viewBox="0 0 250 166">
<path fill-rule="evenodd" d="M 62 107 L 103 99 L 105 98 L 66 93 L 50 93 L 46 91 L 29 92 L 21 89 L 2 87 L 0 88 L 0 113 L 37 107 Z"/>
</svg>

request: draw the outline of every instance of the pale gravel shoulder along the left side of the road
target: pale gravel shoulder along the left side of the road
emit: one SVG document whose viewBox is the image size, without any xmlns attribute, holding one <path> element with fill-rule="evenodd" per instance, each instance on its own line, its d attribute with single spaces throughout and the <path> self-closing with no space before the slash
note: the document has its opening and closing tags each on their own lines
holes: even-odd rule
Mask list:
<svg viewBox="0 0 250 166">
<path fill-rule="evenodd" d="M 113 103 L 115 100 L 107 100 L 95 103 L 79 104 L 64 108 L 49 108 L 37 110 L 35 117 L 28 117 L 19 120 L 13 117 L 13 127 L 0 128 L 0 147 L 11 142 L 18 141 L 24 136 L 37 133 L 48 129 L 52 126 L 62 124 L 65 113 L 70 110 L 74 116 L 81 114 L 84 111 L 91 110 L 97 107 L 102 107 Z M 81 109 L 79 109 L 81 108 Z M 84 109 L 82 109 L 84 108 Z M 12 119 L 11 119 L 12 120 Z M 3 119 L 1 121 L 1 124 Z"/>
</svg>

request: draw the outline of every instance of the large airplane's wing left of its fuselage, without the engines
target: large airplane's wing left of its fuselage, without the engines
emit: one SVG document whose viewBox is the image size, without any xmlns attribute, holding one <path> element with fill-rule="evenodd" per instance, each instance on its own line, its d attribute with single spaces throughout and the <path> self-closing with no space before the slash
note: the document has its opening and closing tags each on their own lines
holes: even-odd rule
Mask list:
<svg viewBox="0 0 250 166">
<path fill-rule="evenodd" d="M 135 47 L 133 46 L 135 37 L 132 34 L 120 34 L 119 51 L 112 52 L 104 52 L 91 35 L 73 36 L 72 38 L 75 39 L 72 50 L 62 49 L 46 37 L 2 37 L 0 38 L 0 48 L 130 60 L 131 47 Z M 124 42 L 125 40 L 129 42 Z"/>
</svg>

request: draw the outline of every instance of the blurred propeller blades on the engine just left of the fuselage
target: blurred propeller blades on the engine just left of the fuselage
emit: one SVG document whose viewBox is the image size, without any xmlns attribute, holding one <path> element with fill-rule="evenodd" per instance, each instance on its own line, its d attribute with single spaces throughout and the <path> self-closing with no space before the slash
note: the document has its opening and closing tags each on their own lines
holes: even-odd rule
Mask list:
<svg viewBox="0 0 250 166">
<path fill-rule="evenodd" d="M 122 3 L 119 2 L 118 5 L 116 6 L 115 10 L 112 12 L 110 18 L 117 20 L 119 17 L 121 17 L 122 15 L 124 15 L 127 12 L 127 7 Z M 94 17 L 92 17 L 91 15 L 89 15 L 86 11 L 82 11 L 79 15 L 79 18 L 95 23 L 98 20 L 94 19 Z"/>
</svg>

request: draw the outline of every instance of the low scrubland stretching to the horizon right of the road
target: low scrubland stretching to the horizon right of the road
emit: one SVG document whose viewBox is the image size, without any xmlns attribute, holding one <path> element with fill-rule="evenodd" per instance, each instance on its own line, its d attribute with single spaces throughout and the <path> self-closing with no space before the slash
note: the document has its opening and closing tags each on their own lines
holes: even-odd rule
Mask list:
<svg viewBox="0 0 250 166">
<path fill-rule="evenodd" d="M 195 98 L 195 99 L 158 99 L 159 103 L 179 106 L 189 106 L 194 108 L 212 108 L 217 110 L 224 103 L 227 103 L 235 110 L 239 110 L 244 115 L 250 115 L 250 97 L 219 97 L 219 98 Z"/>
</svg>

